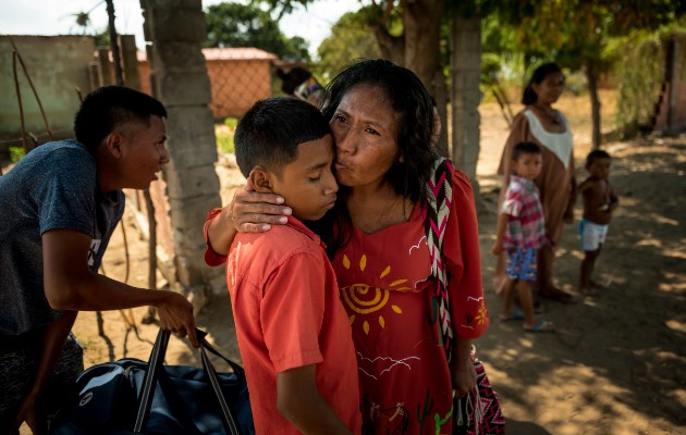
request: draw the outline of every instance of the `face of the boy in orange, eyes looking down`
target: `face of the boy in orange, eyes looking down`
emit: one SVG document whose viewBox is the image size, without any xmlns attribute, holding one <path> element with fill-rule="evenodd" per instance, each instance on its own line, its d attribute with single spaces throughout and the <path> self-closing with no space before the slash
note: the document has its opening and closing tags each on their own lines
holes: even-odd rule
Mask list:
<svg viewBox="0 0 686 435">
<path fill-rule="evenodd" d="M 316 221 L 333 208 L 339 190 L 331 172 L 333 157 L 331 135 L 303 142 L 297 158 L 283 166 L 280 176 L 272 177 L 273 192 L 283 197 L 295 217 Z"/>
</svg>

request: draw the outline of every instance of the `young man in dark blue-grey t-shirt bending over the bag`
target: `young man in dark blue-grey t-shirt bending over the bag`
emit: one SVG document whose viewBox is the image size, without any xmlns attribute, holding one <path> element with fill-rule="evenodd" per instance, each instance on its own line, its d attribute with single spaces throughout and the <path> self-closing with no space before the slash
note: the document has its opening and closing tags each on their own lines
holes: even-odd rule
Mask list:
<svg viewBox="0 0 686 435">
<path fill-rule="evenodd" d="M 76 140 L 42 145 L 0 176 L 0 434 L 24 421 L 45 431 L 54 391 L 83 370 L 70 334 L 78 311 L 154 306 L 161 327 L 198 347 L 185 297 L 97 273 L 122 188 L 149 187 L 169 162 L 166 116 L 150 96 L 100 88 L 76 113 Z"/>
</svg>

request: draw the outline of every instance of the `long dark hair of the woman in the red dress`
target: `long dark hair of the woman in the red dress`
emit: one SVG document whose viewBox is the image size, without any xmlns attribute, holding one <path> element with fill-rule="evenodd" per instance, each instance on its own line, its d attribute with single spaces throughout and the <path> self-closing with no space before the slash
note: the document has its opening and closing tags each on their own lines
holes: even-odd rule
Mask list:
<svg viewBox="0 0 686 435">
<path fill-rule="evenodd" d="M 393 186 L 396 194 L 412 201 L 424 201 L 425 186 L 431 166 L 438 158 L 431 148 L 433 132 L 431 96 L 412 71 L 382 59 L 363 60 L 348 65 L 326 87 L 321 110 L 327 121 L 331 122 L 343 97 L 358 85 L 380 89 L 396 114 L 399 127 L 396 140 L 403 162 L 393 163 L 385 174 L 385 181 Z M 328 250 L 330 254 L 345 244 L 352 231 L 352 221 L 345 208 L 345 198 L 348 194 L 350 187 L 339 186 L 336 207 L 317 224 L 326 232 L 327 226 L 332 226 L 331 222 L 326 222 L 327 220 L 336 222 L 335 238 L 318 232 L 330 247 Z"/>
</svg>

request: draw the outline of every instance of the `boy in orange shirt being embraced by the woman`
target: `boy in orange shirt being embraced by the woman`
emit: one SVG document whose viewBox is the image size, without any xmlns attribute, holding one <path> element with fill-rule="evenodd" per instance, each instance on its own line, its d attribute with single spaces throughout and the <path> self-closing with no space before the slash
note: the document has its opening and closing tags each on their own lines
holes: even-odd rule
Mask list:
<svg viewBox="0 0 686 435">
<path fill-rule="evenodd" d="M 238 233 L 226 284 L 258 434 L 359 434 L 357 363 L 347 315 L 324 245 L 302 221 L 317 221 L 338 184 L 329 124 L 311 104 L 258 101 L 235 134 L 236 161 L 258 192 L 284 198 L 293 213 L 267 233 Z"/>
</svg>

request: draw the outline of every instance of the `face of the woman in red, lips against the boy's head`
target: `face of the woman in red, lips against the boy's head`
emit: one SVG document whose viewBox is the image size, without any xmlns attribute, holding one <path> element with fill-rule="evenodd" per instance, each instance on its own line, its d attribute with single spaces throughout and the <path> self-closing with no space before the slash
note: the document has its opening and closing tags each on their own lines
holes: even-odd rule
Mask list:
<svg viewBox="0 0 686 435">
<path fill-rule="evenodd" d="M 339 184 L 359 187 L 383 182 L 393 163 L 402 159 L 399 119 L 378 87 L 362 84 L 347 91 L 330 121 Z"/>
</svg>

